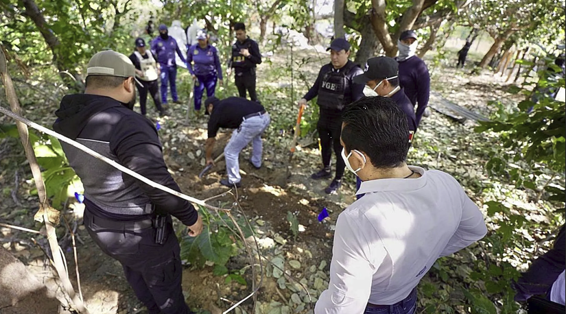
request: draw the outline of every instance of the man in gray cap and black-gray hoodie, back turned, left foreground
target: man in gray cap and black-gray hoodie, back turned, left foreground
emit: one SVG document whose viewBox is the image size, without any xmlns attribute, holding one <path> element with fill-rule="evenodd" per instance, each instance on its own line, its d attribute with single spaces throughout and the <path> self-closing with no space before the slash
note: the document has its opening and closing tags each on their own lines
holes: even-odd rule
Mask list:
<svg viewBox="0 0 566 314">
<path fill-rule="evenodd" d="M 84 94 L 63 97 L 54 130 L 180 191 L 167 171 L 156 128 L 132 110 L 136 71 L 131 60 L 115 51 L 101 51 L 91 58 L 86 73 Z M 202 219 L 193 205 L 74 146 L 61 145 L 84 186 L 86 230 L 102 252 L 121 263 L 148 313 L 192 313 L 182 294 L 180 247 L 171 216 L 196 237 L 202 232 Z"/>
</svg>

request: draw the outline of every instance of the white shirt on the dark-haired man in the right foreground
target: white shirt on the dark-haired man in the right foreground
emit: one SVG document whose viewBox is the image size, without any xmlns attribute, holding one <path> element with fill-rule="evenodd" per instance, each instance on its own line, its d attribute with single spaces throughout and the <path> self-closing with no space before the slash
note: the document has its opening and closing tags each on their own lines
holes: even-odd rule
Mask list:
<svg viewBox="0 0 566 314">
<path fill-rule="evenodd" d="M 406 298 L 437 258 L 482 239 L 484 217 L 443 171 L 410 167 L 421 178 L 362 182 L 366 193 L 338 217 L 329 289 L 316 314 L 364 313 L 368 302 Z"/>
</svg>

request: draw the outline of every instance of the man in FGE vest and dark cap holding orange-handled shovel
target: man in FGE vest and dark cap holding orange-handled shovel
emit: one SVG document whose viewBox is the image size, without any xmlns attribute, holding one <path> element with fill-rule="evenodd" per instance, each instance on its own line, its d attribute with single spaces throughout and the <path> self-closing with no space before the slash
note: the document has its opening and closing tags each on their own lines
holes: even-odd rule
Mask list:
<svg viewBox="0 0 566 314">
<path fill-rule="evenodd" d="M 330 47 L 329 64 L 320 69 L 316 82 L 309 89 L 303 99 L 298 101 L 299 106 L 305 106 L 307 101 L 318 95 L 316 104 L 320 108 L 320 117 L 316 128 L 320 137 L 322 149 L 322 169 L 314 173 L 311 178 L 330 178 L 330 164 L 332 148 L 336 155 L 336 174 L 334 180 L 325 189 L 325 193 L 336 193 L 342 185 L 344 176 L 344 160 L 342 159 L 342 145 L 340 144 L 340 131 L 342 130 L 342 111 L 347 104 L 364 97 L 364 84 L 353 82 L 352 78 L 364 71 L 357 64 L 349 60 L 350 44 L 344 38 L 332 40 Z"/>
</svg>

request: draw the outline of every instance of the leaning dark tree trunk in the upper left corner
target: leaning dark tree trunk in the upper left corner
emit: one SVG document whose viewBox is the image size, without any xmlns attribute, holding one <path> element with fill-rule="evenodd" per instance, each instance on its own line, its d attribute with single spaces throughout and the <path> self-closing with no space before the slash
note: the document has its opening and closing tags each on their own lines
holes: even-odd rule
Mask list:
<svg viewBox="0 0 566 314">
<path fill-rule="evenodd" d="M 34 0 L 21 1 L 25 7 L 25 15 L 32 19 L 39 32 L 43 36 L 45 43 L 47 43 L 47 46 L 49 47 L 49 49 L 51 49 L 51 53 L 53 53 L 53 63 L 59 70 L 59 75 L 64 84 L 66 84 L 70 90 L 74 90 L 76 92 L 84 90 L 84 84 L 82 83 L 81 75 L 79 75 L 74 70 L 75 67 L 73 67 L 72 64 L 67 64 L 67 62 L 65 62 L 67 58 L 65 58 L 65 56 L 62 56 L 62 53 L 60 53 L 59 51 L 59 47 L 61 46 L 59 38 L 57 38 L 57 36 L 55 36 L 55 34 L 51 32 L 51 29 L 47 27 L 45 18 L 40 12 L 37 4 L 34 2 Z"/>
</svg>

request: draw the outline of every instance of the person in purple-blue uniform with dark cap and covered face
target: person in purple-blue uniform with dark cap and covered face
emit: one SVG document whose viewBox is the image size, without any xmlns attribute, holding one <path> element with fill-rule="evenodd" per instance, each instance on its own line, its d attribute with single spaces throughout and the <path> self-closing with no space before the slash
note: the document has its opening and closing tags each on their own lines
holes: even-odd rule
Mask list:
<svg viewBox="0 0 566 314">
<path fill-rule="evenodd" d="M 173 98 L 173 102 L 175 104 L 181 104 L 177 96 L 177 63 L 175 53 L 178 54 L 183 63 L 187 63 L 187 60 L 182 56 L 177 40 L 169 36 L 167 26 L 161 24 L 158 29 L 159 36 L 152 40 L 151 47 L 152 53 L 154 56 L 157 56 L 157 62 L 161 67 L 161 102 L 163 105 L 167 105 L 167 83 L 169 83 L 171 84 L 171 97 Z"/>
</svg>

